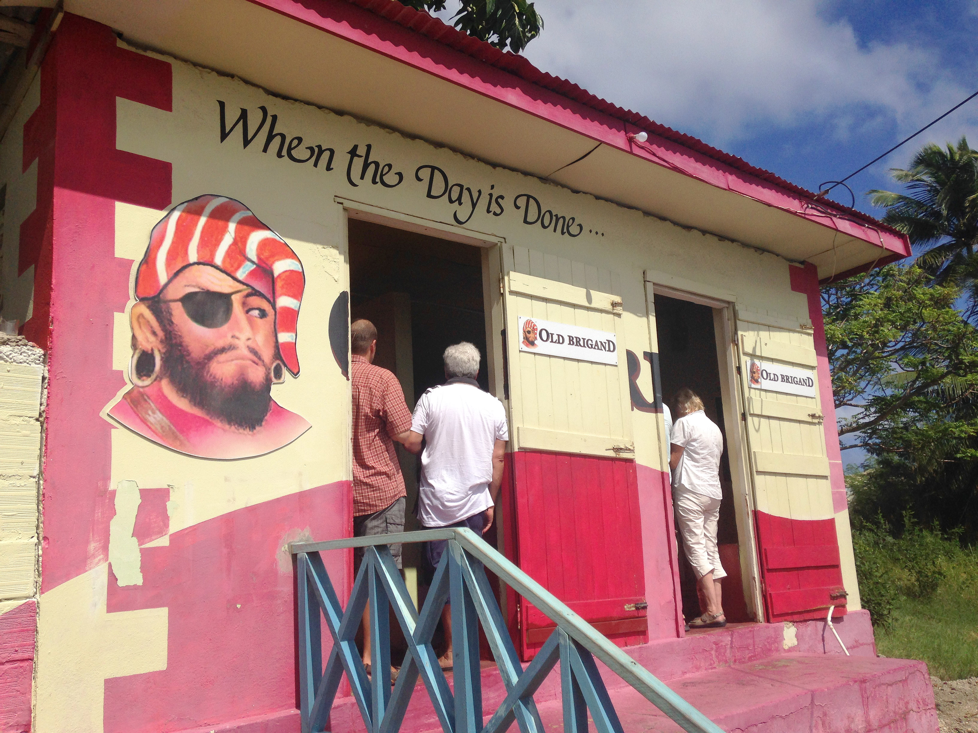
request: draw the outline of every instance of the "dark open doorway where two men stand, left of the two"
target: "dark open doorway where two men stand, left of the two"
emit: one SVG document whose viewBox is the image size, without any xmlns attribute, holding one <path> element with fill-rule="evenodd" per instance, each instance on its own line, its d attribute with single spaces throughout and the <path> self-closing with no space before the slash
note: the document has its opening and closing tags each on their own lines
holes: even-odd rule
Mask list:
<svg viewBox="0 0 978 733">
<path fill-rule="evenodd" d="M 394 372 L 408 408 L 414 410 L 424 390 L 444 383 L 442 354 L 460 341 L 481 353 L 478 382 L 488 390 L 482 248 L 357 219 L 348 220 L 348 240 L 350 320 L 377 326 L 374 364 Z M 408 494 L 404 530 L 412 532 L 419 529 L 419 461 L 395 445 Z M 485 539 L 492 541 L 494 530 Z M 417 603 L 420 545 L 405 545 L 402 559 Z"/>
</svg>

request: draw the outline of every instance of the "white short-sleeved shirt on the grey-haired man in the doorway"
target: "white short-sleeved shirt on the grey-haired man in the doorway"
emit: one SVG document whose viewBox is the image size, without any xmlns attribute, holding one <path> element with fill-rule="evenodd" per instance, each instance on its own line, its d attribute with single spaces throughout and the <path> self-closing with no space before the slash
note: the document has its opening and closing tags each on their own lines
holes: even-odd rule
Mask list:
<svg viewBox="0 0 978 733">
<path fill-rule="evenodd" d="M 432 387 L 415 406 L 411 429 L 425 440 L 418 486 L 424 527 L 446 527 L 493 505 L 493 449 L 510 440 L 503 403 L 465 382 Z"/>
</svg>

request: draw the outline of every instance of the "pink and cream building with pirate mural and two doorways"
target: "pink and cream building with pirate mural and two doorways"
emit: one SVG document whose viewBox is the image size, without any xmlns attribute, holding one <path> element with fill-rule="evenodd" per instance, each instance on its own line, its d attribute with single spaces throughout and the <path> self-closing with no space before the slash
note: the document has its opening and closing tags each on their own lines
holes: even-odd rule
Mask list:
<svg viewBox="0 0 978 733">
<path fill-rule="evenodd" d="M 819 297 L 906 237 L 392 0 L 16 18 L 2 318 L 36 348 L 0 336 L 0 731 L 298 731 L 288 545 L 351 534 L 351 316 L 409 407 L 479 346 L 511 431 L 490 539 L 520 568 L 690 700 L 689 675 L 787 666 L 763 710 L 716 682 L 721 725 L 936 730 L 926 669 L 877 660 L 861 610 Z M 148 303 L 194 272 L 275 319 L 257 422 L 163 385 Z M 662 419 L 684 386 L 727 449 L 736 623 L 700 636 Z M 550 622 L 502 605 L 531 659 Z"/>
</svg>

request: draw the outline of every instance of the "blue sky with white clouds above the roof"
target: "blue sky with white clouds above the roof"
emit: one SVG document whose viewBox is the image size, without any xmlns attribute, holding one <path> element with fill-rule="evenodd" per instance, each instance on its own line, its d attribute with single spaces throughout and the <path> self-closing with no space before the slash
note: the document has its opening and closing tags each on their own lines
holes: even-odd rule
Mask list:
<svg viewBox="0 0 978 733">
<path fill-rule="evenodd" d="M 448 1 L 451 16 L 458 0 Z M 978 0 L 535 0 L 543 70 L 816 190 L 978 91 Z M 892 188 L 923 142 L 967 135 L 978 99 L 861 174 Z M 837 199 L 849 195 L 836 189 Z"/>
</svg>

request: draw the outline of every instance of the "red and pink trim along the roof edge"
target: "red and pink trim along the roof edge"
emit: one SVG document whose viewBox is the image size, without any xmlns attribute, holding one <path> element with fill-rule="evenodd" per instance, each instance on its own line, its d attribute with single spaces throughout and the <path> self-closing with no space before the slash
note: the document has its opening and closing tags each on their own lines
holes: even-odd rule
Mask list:
<svg viewBox="0 0 978 733">
<path fill-rule="evenodd" d="M 795 186 L 735 155 L 616 107 L 511 52 L 407 8 L 397 0 L 249 0 L 403 64 L 521 109 L 621 151 L 717 188 L 742 194 L 867 241 L 900 258 L 911 254 L 902 233 L 867 214 Z M 645 130 L 635 145 L 628 132 Z M 882 258 L 880 258 L 882 260 Z"/>
</svg>

